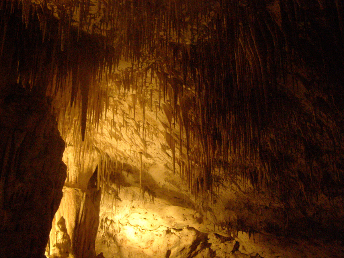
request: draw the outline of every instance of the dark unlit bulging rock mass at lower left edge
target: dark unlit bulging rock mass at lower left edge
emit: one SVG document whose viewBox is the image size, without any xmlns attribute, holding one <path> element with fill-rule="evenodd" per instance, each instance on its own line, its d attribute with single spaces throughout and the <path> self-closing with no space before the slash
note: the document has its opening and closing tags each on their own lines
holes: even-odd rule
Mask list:
<svg viewBox="0 0 344 258">
<path fill-rule="evenodd" d="M 64 141 L 45 97 L 0 97 L 0 256 L 42 257 L 60 205 Z"/>
</svg>

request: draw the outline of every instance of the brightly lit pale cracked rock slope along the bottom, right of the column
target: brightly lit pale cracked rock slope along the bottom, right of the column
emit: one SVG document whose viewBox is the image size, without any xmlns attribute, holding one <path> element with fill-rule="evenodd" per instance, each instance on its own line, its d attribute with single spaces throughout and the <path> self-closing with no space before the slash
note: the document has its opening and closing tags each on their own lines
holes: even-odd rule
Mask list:
<svg viewBox="0 0 344 258">
<path fill-rule="evenodd" d="M 133 183 L 130 178 L 130 175 L 126 178 L 127 184 Z M 106 194 L 100 205 L 96 251 L 103 252 L 106 258 L 320 258 L 335 257 L 341 252 L 337 247 L 326 250 L 317 240 L 290 239 L 257 232 L 230 232 L 225 225 L 218 226 L 217 219 L 220 213 L 224 213 L 221 208 L 217 209 L 214 205 L 215 216 L 210 212 L 204 216 L 195 211 L 197 208 L 193 202 L 172 185 L 169 190 L 167 185 L 154 189 L 153 199 L 147 192 L 140 191 L 138 186 L 122 186 L 114 198 L 117 190 L 112 185 L 112 194 Z M 238 190 L 232 191 L 228 193 L 241 195 Z M 247 197 L 242 197 L 234 198 L 233 202 L 236 201 L 243 211 L 241 214 L 236 211 L 232 216 L 238 215 L 239 219 L 246 209 L 246 215 L 255 220 L 257 215 L 249 207 L 253 204 L 247 203 Z M 264 212 L 265 208 L 261 205 L 260 209 Z"/>
</svg>

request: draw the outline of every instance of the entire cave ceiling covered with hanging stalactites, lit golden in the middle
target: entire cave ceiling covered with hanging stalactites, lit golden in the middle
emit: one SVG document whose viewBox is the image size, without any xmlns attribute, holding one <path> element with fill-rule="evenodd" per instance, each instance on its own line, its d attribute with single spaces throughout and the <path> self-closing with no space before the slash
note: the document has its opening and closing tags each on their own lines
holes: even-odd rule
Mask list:
<svg viewBox="0 0 344 258">
<path fill-rule="evenodd" d="M 85 186 L 92 160 L 103 191 L 125 171 L 198 204 L 240 184 L 314 208 L 343 196 L 342 11 L 320 0 L 1 1 L 0 90 L 49 97 L 70 185 Z"/>
</svg>

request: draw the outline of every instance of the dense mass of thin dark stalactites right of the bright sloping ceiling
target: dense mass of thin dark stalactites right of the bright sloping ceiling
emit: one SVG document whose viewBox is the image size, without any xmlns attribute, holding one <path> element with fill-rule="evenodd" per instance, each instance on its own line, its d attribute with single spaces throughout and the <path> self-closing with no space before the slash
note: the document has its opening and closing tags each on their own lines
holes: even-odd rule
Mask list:
<svg viewBox="0 0 344 258">
<path fill-rule="evenodd" d="M 132 68 L 121 72 L 117 86 L 128 94 L 132 89 L 148 96 L 149 103 L 144 89 L 155 83 L 156 105 L 168 121 L 162 124 L 165 141 L 193 194 L 233 182 L 237 176 L 257 189 L 278 189 L 284 172 L 295 163 L 302 171 L 297 175 L 300 190 L 308 199 L 304 185 L 319 188 L 321 179 L 316 178 L 322 175 L 314 160 L 323 155 L 314 153 L 312 146 L 326 146 L 338 155 L 341 144 L 338 133 L 329 141 L 312 133 L 328 121 L 321 108 L 311 107 L 313 101 L 329 103 L 326 94 L 334 92 L 309 85 L 311 79 L 303 74 L 307 69 L 314 74 L 327 71 L 322 83 L 331 84 L 340 72 L 328 73 L 329 67 L 342 71 L 340 56 L 333 60 L 334 52 L 319 51 L 330 41 L 331 31 L 324 30 L 318 38 L 312 33 L 320 28 L 311 22 L 323 15 L 322 7 L 314 3 L 306 8 L 292 0 L 275 6 L 265 1 L 198 1 L 191 7 L 191 2 L 178 9 L 165 1 L 159 7 L 162 12 L 150 13 L 149 22 L 146 12 L 135 13 L 131 6 L 135 15 L 130 17 L 135 19 L 128 20 L 123 56 L 132 61 Z M 338 33 L 332 38 L 341 42 L 342 6 L 336 2 L 326 8 L 338 17 Z M 324 20 L 330 22 L 331 17 L 325 15 Z M 304 44 L 320 47 L 309 54 L 303 52 Z M 323 58 L 307 66 L 304 62 L 312 55 Z M 313 97 L 302 103 L 305 91 Z M 132 95 L 134 107 L 135 101 Z M 331 124 L 330 131 L 336 127 Z M 333 160 L 329 156 L 321 166 Z M 334 181 L 340 182 L 342 172 L 332 168 Z"/>
</svg>

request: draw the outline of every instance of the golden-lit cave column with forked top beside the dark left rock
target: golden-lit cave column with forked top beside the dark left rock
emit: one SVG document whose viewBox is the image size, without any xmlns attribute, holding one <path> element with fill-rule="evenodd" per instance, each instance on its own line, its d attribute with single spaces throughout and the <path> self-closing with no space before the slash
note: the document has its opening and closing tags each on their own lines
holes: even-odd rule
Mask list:
<svg viewBox="0 0 344 258">
<path fill-rule="evenodd" d="M 47 254 L 59 256 L 56 225 L 63 217 L 71 239 L 71 255 L 75 258 L 94 258 L 101 197 L 101 190 L 97 190 L 100 155 L 97 151 L 91 151 L 84 155 L 83 166 L 77 166 L 73 146 L 68 146 L 63 159 L 68 164 L 68 176 L 63 187 L 61 205 L 53 220 Z"/>
</svg>

